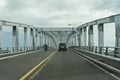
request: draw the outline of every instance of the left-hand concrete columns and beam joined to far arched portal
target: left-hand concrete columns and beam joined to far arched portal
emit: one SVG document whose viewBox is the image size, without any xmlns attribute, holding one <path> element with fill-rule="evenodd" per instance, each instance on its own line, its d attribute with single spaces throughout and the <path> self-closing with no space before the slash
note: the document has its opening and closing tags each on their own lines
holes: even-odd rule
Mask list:
<svg viewBox="0 0 120 80">
<path fill-rule="evenodd" d="M 2 28 L 5 26 L 12 27 L 12 45 L 11 48 L 3 49 L 1 43 L 2 43 Z M 19 37 L 19 28 L 23 28 L 23 47 L 20 47 L 20 37 Z M 28 31 L 30 31 L 28 33 Z M 71 42 L 76 43 L 76 35 L 73 33 L 76 32 L 76 28 L 70 27 L 59 27 L 59 28 L 40 28 L 35 27 L 32 25 L 17 23 L 17 22 L 10 22 L 5 20 L 0 20 L 0 49 L 1 51 L 19 51 L 20 49 L 24 49 L 27 47 L 29 49 L 29 46 L 33 48 L 33 50 L 36 49 L 36 47 L 43 47 L 45 44 L 47 44 L 49 47 L 52 48 L 58 48 L 59 43 L 66 43 L 68 46 L 71 46 Z M 28 39 L 28 35 L 30 36 L 30 39 Z M 75 41 L 71 41 L 75 39 Z M 28 45 L 28 40 L 30 41 L 30 45 Z M 72 44 L 73 45 L 73 44 Z M 30 50 L 30 49 L 29 49 Z"/>
</svg>

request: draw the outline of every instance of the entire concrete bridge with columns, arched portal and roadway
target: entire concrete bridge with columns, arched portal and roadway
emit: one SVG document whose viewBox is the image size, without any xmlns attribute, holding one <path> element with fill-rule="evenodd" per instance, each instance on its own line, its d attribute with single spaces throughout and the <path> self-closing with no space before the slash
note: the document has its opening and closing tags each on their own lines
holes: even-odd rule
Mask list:
<svg viewBox="0 0 120 80">
<path fill-rule="evenodd" d="M 115 25 L 115 47 L 104 46 L 104 25 L 109 23 Z M 11 47 L 2 43 L 6 26 L 12 28 Z M 67 51 L 58 51 L 60 43 Z M 0 20 L 0 80 L 120 80 L 120 14 L 68 28 Z"/>
</svg>

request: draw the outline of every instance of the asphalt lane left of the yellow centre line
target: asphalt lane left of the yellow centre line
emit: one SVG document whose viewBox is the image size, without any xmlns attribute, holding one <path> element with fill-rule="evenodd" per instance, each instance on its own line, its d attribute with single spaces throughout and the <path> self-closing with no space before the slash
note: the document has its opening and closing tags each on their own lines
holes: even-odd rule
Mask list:
<svg viewBox="0 0 120 80">
<path fill-rule="evenodd" d="M 0 60 L 0 80 L 19 80 L 53 51 L 40 51 Z"/>
</svg>

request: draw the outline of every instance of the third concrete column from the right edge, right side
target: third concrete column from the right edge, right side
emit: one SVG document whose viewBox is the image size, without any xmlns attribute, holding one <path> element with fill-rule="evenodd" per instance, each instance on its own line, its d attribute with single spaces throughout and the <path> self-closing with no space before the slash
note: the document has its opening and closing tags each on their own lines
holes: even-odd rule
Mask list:
<svg viewBox="0 0 120 80">
<path fill-rule="evenodd" d="M 94 46 L 93 25 L 88 28 L 88 46 Z"/>
</svg>

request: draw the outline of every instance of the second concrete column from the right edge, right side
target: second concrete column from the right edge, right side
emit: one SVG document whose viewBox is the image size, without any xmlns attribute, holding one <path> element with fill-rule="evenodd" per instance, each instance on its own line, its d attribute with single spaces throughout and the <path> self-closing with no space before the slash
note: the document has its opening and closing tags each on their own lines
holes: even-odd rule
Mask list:
<svg viewBox="0 0 120 80">
<path fill-rule="evenodd" d="M 104 24 L 98 25 L 98 46 L 104 46 Z"/>
</svg>

